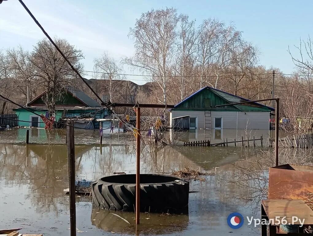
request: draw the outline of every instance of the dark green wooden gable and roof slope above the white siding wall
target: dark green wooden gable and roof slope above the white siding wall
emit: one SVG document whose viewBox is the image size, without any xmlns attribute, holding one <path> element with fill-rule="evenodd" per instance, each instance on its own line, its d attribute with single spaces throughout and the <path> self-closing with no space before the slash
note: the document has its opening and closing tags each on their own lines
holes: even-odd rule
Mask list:
<svg viewBox="0 0 313 236">
<path fill-rule="evenodd" d="M 230 105 L 225 107 L 216 108 L 217 105 L 224 105 L 235 102 L 244 102 L 246 99 L 234 96 L 232 94 L 204 87 L 198 92 L 192 94 L 184 101 L 178 103 L 172 110 L 180 111 L 235 111 L 235 112 L 270 112 L 271 109 L 254 103 L 247 105 Z"/>
</svg>

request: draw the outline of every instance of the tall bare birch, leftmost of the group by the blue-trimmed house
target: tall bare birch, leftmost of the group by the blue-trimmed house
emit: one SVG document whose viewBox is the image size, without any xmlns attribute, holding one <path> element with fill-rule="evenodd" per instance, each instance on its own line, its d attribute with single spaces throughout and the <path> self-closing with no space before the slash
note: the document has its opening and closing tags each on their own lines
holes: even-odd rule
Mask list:
<svg viewBox="0 0 313 236">
<path fill-rule="evenodd" d="M 135 40 L 135 56 L 124 59 L 126 64 L 153 76 L 153 81 L 162 88 L 164 104 L 167 102 L 167 82 L 172 71 L 178 20 L 173 8 L 143 13 L 129 33 Z"/>
</svg>

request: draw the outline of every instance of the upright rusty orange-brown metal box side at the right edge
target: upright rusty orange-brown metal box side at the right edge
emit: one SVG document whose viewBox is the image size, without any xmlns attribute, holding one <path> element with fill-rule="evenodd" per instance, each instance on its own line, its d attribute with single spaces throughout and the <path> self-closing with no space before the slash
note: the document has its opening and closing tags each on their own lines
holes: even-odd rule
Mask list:
<svg viewBox="0 0 313 236">
<path fill-rule="evenodd" d="M 313 193 L 313 167 L 280 165 L 269 168 L 268 198 L 306 199 Z M 313 194 L 310 196 L 313 198 Z"/>
</svg>

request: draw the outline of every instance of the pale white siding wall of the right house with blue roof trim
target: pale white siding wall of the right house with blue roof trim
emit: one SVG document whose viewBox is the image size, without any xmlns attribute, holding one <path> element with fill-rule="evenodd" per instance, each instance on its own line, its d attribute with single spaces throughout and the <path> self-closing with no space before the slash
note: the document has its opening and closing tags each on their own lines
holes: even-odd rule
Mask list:
<svg viewBox="0 0 313 236">
<path fill-rule="evenodd" d="M 204 129 L 204 111 L 172 111 L 170 114 L 170 125 L 172 118 L 187 116 L 197 117 L 197 128 Z M 214 117 L 223 117 L 223 129 L 269 129 L 269 112 L 215 112 L 211 111 L 211 124 L 214 128 Z"/>
</svg>

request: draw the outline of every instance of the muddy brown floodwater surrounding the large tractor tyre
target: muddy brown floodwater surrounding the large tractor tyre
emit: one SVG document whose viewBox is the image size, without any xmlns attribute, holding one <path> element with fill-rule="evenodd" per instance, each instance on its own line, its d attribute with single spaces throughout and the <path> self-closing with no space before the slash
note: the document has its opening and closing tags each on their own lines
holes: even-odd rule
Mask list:
<svg viewBox="0 0 313 236">
<path fill-rule="evenodd" d="M 66 145 L 0 144 L 0 229 L 23 228 L 21 233 L 69 235 L 69 197 Z M 135 173 L 133 145 L 75 145 L 76 179 L 95 180 L 114 172 Z M 189 214 L 141 213 L 139 235 L 259 235 L 246 216 L 258 216 L 259 200 L 229 181 L 233 163 L 253 158 L 242 147 L 142 148 L 141 173 L 167 173 L 186 164 L 215 172 L 206 182 L 191 181 Z M 240 212 L 240 229 L 227 225 L 227 216 Z M 125 218 L 130 224 L 114 214 Z M 135 235 L 132 212 L 94 208 L 88 198 L 77 197 L 78 235 Z"/>
</svg>

